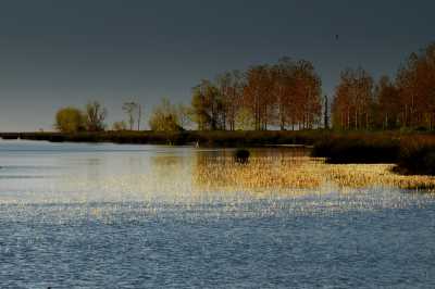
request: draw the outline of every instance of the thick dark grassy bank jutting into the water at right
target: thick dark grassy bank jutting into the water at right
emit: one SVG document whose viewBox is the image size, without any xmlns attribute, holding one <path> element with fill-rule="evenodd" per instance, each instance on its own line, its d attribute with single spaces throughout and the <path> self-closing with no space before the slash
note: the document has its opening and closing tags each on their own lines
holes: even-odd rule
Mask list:
<svg viewBox="0 0 435 289">
<path fill-rule="evenodd" d="M 407 175 L 435 175 L 435 135 L 353 134 L 332 135 L 314 143 L 313 156 L 333 164 L 397 164 L 394 171 Z"/>
</svg>

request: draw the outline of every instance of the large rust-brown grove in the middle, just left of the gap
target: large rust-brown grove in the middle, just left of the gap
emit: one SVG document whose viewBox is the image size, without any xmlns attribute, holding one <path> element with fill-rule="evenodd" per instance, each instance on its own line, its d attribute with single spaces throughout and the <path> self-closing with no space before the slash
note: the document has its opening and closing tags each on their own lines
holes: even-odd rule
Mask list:
<svg viewBox="0 0 435 289">
<path fill-rule="evenodd" d="M 199 130 L 319 127 L 321 79 L 311 62 L 288 58 L 226 72 L 192 89 L 191 115 Z"/>
</svg>

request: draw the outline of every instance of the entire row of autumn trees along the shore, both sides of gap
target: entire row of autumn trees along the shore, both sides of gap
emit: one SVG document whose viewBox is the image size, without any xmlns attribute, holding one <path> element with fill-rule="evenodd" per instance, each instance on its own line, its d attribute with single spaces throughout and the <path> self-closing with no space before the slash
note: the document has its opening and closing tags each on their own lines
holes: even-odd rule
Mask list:
<svg viewBox="0 0 435 289">
<path fill-rule="evenodd" d="M 140 130 L 142 108 L 125 102 L 126 121 L 113 130 Z M 266 130 L 314 129 L 434 129 L 435 43 L 411 53 L 394 79 L 377 81 L 362 67 L 340 73 L 332 99 L 322 98 L 322 83 L 307 60 L 283 58 L 274 64 L 225 72 L 214 80 L 202 79 L 192 88 L 189 105 L 166 98 L 149 115 L 151 130 Z M 84 110 L 61 109 L 55 116 L 59 130 L 108 129 L 107 110 L 97 101 Z"/>
</svg>

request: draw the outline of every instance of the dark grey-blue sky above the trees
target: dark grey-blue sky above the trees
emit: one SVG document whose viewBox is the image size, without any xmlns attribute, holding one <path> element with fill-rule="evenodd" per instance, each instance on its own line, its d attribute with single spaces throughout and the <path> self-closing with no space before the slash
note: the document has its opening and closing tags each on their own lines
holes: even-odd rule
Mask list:
<svg viewBox="0 0 435 289">
<path fill-rule="evenodd" d="M 424 0 L 1 1 L 0 131 L 53 129 L 58 109 L 90 100 L 109 124 L 126 101 L 147 118 L 163 97 L 189 103 L 202 78 L 282 56 L 311 61 L 333 96 L 345 67 L 394 77 L 435 41 L 433 11 Z"/>
</svg>

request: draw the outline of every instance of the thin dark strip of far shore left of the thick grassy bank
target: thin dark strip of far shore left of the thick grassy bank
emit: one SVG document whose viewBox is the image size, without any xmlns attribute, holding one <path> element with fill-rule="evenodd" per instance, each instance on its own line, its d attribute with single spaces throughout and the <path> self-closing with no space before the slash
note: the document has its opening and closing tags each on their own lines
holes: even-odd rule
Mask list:
<svg viewBox="0 0 435 289">
<path fill-rule="evenodd" d="M 263 147 L 279 144 L 313 146 L 327 138 L 328 130 L 265 131 L 101 131 L 101 133 L 0 133 L 2 139 L 45 140 L 51 142 L 113 142 L 200 147 Z"/>
</svg>

